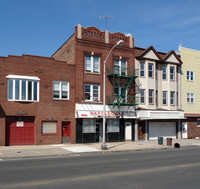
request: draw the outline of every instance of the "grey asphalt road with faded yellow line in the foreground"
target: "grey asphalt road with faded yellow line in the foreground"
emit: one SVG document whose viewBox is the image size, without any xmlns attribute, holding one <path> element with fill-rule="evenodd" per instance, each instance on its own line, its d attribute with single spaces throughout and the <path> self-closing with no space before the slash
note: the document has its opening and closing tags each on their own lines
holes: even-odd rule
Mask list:
<svg viewBox="0 0 200 189">
<path fill-rule="evenodd" d="M 0 189 L 200 188 L 200 148 L 0 161 Z"/>
</svg>

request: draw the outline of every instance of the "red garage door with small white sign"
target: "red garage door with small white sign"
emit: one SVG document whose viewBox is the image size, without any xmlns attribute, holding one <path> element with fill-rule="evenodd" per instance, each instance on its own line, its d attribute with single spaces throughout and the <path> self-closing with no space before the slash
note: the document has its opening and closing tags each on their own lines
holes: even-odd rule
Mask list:
<svg viewBox="0 0 200 189">
<path fill-rule="evenodd" d="M 7 144 L 34 144 L 34 117 L 6 117 Z"/>
</svg>

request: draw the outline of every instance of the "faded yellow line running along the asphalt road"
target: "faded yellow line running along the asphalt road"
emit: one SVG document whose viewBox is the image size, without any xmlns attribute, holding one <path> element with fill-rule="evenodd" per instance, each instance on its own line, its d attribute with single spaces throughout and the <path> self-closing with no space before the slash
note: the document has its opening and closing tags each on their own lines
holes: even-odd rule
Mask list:
<svg viewBox="0 0 200 189">
<path fill-rule="evenodd" d="M 138 169 L 138 170 L 133 170 L 133 171 L 111 172 L 111 173 L 105 173 L 105 174 L 96 174 L 96 175 L 80 176 L 80 177 L 72 177 L 72 178 L 65 177 L 65 178 L 43 180 L 43 181 L 22 182 L 22 183 L 0 185 L 0 188 L 4 188 L 4 189 L 28 188 L 28 187 L 36 187 L 36 186 L 41 186 L 41 185 L 55 184 L 56 182 L 66 183 L 66 182 L 87 181 L 87 180 L 98 179 L 98 178 L 108 179 L 108 177 L 137 175 L 137 174 L 144 174 L 144 173 L 173 170 L 176 168 L 188 168 L 188 167 L 197 167 L 197 166 L 199 167 L 200 163 L 172 165 L 172 166 L 157 167 L 157 168 L 150 168 L 150 169 Z"/>
</svg>

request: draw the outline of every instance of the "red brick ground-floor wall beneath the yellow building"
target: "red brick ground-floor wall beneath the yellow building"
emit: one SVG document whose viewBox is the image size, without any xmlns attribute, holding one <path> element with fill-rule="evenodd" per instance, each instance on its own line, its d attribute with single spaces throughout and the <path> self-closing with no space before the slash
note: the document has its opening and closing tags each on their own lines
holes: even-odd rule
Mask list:
<svg viewBox="0 0 200 189">
<path fill-rule="evenodd" d="M 197 127 L 197 117 L 187 118 L 188 138 L 200 137 L 200 127 Z"/>
</svg>

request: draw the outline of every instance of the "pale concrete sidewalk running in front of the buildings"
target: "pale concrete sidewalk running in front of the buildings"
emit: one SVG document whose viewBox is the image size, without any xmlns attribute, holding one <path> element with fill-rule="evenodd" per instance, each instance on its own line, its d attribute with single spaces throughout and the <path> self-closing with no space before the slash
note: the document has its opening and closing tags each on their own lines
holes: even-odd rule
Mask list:
<svg viewBox="0 0 200 189">
<path fill-rule="evenodd" d="M 163 144 L 154 141 L 137 141 L 137 142 L 112 142 L 107 143 L 108 150 L 101 150 L 101 143 L 90 144 L 55 144 L 55 145 L 26 145 L 26 146 L 1 146 L 0 160 L 7 158 L 28 158 L 28 157 L 49 157 L 62 156 L 67 154 L 77 154 L 83 152 L 114 152 L 114 151 L 131 151 L 147 149 L 165 149 L 174 148 L 174 144 L 179 143 L 181 147 L 199 146 L 200 140 L 193 139 L 173 139 L 172 146 L 167 146 L 166 140 Z"/>
</svg>

